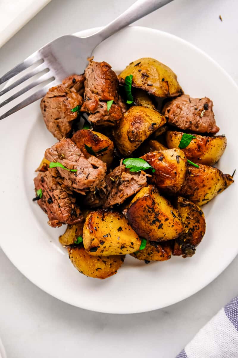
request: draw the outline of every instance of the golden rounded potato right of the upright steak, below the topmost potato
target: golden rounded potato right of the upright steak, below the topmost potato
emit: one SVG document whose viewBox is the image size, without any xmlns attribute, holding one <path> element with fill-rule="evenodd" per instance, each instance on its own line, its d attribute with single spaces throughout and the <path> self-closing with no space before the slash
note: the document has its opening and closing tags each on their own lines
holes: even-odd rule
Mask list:
<svg viewBox="0 0 238 358">
<path fill-rule="evenodd" d="M 132 106 L 123 114 L 118 128 L 113 131 L 117 148 L 123 155 L 130 155 L 165 122 L 165 117 L 158 111 L 148 107 Z"/>
</svg>

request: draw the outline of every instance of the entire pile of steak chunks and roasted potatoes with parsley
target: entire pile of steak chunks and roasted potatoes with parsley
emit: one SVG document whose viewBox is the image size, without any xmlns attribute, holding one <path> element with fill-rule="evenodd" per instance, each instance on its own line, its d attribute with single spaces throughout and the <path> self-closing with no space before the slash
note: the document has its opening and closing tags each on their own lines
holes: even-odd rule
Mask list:
<svg viewBox="0 0 238 358">
<path fill-rule="evenodd" d="M 233 183 L 212 166 L 227 144 L 212 107 L 153 58 L 118 77 L 91 58 L 49 89 L 41 111 L 58 142 L 36 170 L 33 200 L 50 226 L 67 224 L 59 241 L 77 270 L 105 279 L 126 254 L 149 263 L 195 253 L 201 206 Z"/>
</svg>

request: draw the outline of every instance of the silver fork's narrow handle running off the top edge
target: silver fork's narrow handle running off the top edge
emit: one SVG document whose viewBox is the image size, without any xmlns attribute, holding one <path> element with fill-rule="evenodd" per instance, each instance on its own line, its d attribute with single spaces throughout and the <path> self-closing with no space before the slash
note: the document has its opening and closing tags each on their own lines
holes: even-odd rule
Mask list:
<svg viewBox="0 0 238 358">
<path fill-rule="evenodd" d="M 153 11 L 170 3 L 171 1 L 173 0 L 137 0 L 133 5 L 130 6 L 130 8 L 118 16 L 118 18 L 92 35 L 92 37 L 94 37 L 96 40 L 96 45 L 98 45 L 109 36 L 115 34 L 117 31 L 132 24 L 136 20 L 143 18 L 143 16 L 152 13 Z"/>
</svg>

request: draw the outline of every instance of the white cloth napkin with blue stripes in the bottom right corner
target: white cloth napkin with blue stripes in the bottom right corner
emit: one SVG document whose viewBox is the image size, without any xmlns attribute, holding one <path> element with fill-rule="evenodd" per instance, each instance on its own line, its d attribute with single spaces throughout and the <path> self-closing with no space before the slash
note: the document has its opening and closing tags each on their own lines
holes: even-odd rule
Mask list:
<svg viewBox="0 0 238 358">
<path fill-rule="evenodd" d="M 176 358 L 238 358 L 238 296 L 222 308 Z"/>
</svg>

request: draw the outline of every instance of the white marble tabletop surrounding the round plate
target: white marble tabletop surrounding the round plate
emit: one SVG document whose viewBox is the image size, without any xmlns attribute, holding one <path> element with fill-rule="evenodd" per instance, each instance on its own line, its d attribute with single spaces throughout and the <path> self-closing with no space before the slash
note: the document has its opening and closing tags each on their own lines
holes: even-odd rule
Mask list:
<svg viewBox="0 0 238 358">
<path fill-rule="evenodd" d="M 0 75 L 62 34 L 105 25 L 133 1 L 52 0 L 0 49 Z M 167 31 L 197 45 L 238 82 L 237 12 L 236 0 L 174 0 L 138 25 Z M 173 306 L 143 314 L 109 315 L 78 309 L 47 295 L 0 250 L 0 337 L 7 357 L 173 358 L 238 294 L 237 265 L 238 258 L 209 286 Z"/>
</svg>

